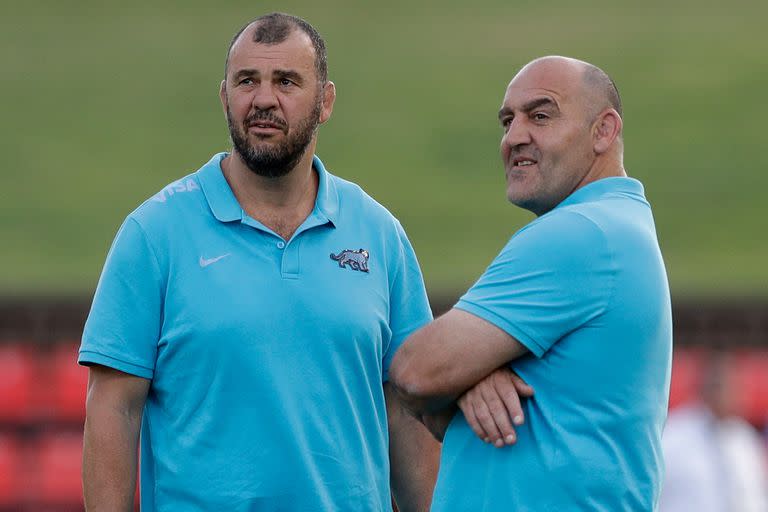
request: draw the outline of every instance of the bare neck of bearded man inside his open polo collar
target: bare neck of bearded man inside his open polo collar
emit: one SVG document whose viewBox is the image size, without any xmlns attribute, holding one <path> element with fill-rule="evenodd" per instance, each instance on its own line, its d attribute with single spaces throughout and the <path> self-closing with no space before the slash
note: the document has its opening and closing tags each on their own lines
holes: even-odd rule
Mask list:
<svg viewBox="0 0 768 512">
<path fill-rule="evenodd" d="M 236 151 L 221 161 L 221 169 L 245 213 L 288 240 L 315 206 L 318 176 L 312 169 L 314 150 L 313 141 L 296 166 L 279 178 L 254 173 Z"/>
</svg>

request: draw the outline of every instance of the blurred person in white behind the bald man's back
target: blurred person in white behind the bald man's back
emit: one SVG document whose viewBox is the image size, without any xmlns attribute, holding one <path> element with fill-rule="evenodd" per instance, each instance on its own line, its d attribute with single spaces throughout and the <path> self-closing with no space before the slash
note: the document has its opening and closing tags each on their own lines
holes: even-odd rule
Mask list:
<svg viewBox="0 0 768 512">
<path fill-rule="evenodd" d="M 662 438 L 660 512 L 765 512 L 768 468 L 757 430 L 741 418 L 733 355 L 708 354 L 698 400 L 670 412 Z"/>
</svg>

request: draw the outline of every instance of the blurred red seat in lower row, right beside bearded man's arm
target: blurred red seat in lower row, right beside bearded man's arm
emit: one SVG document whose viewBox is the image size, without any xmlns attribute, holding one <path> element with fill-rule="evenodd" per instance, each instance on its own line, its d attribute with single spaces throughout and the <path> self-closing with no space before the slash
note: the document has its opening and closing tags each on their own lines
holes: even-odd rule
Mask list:
<svg viewBox="0 0 768 512">
<path fill-rule="evenodd" d="M 77 506 L 83 503 L 82 450 L 83 439 L 79 433 L 43 434 L 35 442 L 35 505 Z"/>
</svg>

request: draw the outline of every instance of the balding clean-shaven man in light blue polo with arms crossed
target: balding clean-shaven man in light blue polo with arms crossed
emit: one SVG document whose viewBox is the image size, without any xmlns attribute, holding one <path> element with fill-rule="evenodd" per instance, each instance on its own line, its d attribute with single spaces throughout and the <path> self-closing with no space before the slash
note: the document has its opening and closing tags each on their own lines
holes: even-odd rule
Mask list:
<svg viewBox="0 0 768 512">
<path fill-rule="evenodd" d="M 509 83 L 499 121 L 507 198 L 537 218 L 390 368 L 444 436 L 432 510 L 654 510 L 670 297 L 618 92 L 591 64 L 544 57 Z M 535 389 L 521 409 L 511 370 Z"/>
</svg>

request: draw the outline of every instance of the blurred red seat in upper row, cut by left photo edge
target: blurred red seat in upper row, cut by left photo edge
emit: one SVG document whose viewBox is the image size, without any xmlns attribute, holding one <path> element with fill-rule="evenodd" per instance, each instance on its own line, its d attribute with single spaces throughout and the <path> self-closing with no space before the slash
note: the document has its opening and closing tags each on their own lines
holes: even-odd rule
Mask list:
<svg viewBox="0 0 768 512">
<path fill-rule="evenodd" d="M 29 422 L 36 406 L 31 348 L 22 343 L 0 345 L 0 376 L 0 423 Z"/>
</svg>

